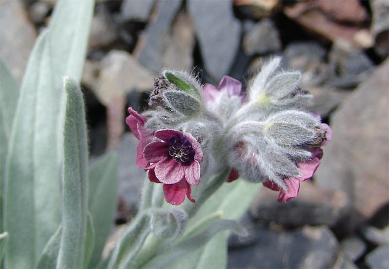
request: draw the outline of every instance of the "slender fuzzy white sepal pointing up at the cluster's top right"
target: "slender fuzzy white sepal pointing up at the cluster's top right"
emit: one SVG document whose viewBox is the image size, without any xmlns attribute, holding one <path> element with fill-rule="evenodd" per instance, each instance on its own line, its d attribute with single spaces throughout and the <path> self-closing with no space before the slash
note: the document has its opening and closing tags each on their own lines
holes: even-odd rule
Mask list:
<svg viewBox="0 0 389 269">
<path fill-rule="evenodd" d="M 260 92 L 265 92 L 265 85 L 268 79 L 280 65 L 281 57 L 274 57 L 262 67 L 261 71 L 254 77 L 249 86 L 250 101 L 256 102 Z"/>
</svg>

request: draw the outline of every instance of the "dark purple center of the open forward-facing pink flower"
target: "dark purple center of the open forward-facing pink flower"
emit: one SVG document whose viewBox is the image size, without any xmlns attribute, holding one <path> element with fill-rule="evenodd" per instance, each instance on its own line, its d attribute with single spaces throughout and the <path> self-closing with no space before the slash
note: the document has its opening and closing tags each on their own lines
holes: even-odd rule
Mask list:
<svg viewBox="0 0 389 269">
<path fill-rule="evenodd" d="M 188 139 L 180 139 L 177 136 L 170 138 L 168 154 L 177 163 L 184 165 L 190 165 L 195 157 L 195 151 Z"/>
</svg>

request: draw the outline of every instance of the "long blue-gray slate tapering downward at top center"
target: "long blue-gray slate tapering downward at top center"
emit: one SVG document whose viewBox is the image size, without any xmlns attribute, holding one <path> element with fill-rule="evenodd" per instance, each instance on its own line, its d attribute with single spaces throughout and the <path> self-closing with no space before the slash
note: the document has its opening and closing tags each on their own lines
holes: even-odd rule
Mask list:
<svg viewBox="0 0 389 269">
<path fill-rule="evenodd" d="M 228 74 L 239 48 L 241 24 L 232 13 L 232 1 L 187 2 L 195 23 L 205 69 L 219 81 Z"/>
</svg>

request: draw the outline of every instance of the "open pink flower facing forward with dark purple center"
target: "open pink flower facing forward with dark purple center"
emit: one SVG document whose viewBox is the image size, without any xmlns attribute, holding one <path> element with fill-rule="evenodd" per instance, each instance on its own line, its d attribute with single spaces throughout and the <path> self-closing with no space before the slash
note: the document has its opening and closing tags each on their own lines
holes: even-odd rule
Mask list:
<svg viewBox="0 0 389 269">
<path fill-rule="evenodd" d="M 143 157 L 149 166 L 149 179 L 163 183 L 165 199 L 178 205 L 185 200 L 191 202 L 191 185 L 200 183 L 200 162 L 203 161 L 201 145 L 192 134 L 182 134 L 171 129 L 155 132 L 155 137 L 162 141 L 153 141 L 143 149 Z"/>
</svg>

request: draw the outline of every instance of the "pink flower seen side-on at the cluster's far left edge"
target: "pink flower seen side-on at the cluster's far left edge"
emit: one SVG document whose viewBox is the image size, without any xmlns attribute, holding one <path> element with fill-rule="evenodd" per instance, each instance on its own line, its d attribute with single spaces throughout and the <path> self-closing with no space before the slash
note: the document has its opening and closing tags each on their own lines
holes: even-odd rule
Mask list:
<svg viewBox="0 0 389 269">
<path fill-rule="evenodd" d="M 138 114 L 132 107 L 128 108 L 128 113 L 130 113 L 130 116 L 125 119 L 125 123 L 130 127 L 135 137 L 139 139 L 136 164 L 138 167 L 145 169 L 149 163 L 143 157 L 143 149 L 153 139 L 153 133 L 144 127 L 147 121 L 146 117 Z"/>
</svg>

